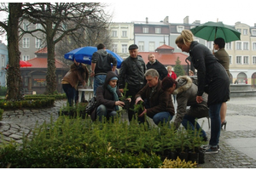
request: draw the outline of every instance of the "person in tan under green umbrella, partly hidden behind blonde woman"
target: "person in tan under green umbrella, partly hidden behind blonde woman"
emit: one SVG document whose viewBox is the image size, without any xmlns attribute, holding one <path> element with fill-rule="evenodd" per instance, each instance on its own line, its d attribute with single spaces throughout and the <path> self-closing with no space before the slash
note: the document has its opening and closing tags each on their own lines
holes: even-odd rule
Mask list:
<svg viewBox="0 0 256 170">
<path fill-rule="evenodd" d="M 218 59 L 218 62 L 224 66 L 224 69 L 227 71 L 227 74 L 230 78 L 230 55 L 225 50 L 225 41 L 222 37 L 218 37 L 214 40 L 213 49 L 218 50 L 215 53 L 213 52 L 213 54 Z M 226 129 L 226 125 L 227 125 L 227 122 L 225 120 L 226 112 L 227 112 L 227 104 L 226 102 L 224 102 L 221 105 L 221 109 L 220 109 L 221 127 L 224 126 L 224 129 Z"/>
</svg>

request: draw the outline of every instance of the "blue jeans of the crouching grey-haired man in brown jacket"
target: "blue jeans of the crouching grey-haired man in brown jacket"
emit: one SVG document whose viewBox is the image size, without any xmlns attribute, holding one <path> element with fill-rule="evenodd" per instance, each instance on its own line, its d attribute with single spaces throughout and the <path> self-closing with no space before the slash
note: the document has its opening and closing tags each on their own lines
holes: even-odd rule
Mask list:
<svg viewBox="0 0 256 170">
<path fill-rule="evenodd" d="M 172 117 L 173 116 L 169 112 L 162 111 L 162 112 L 155 114 L 152 119 L 153 119 L 153 122 L 156 125 L 158 125 L 159 123 L 166 124 L 167 122 L 170 122 L 172 120 Z M 143 122 L 145 122 L 145 119 L 146 119 L 146 116 L 143 116 L 143 117 L 138 117 L 137 120 L 138 120 L 138 122 L 143 123 Z"/>
</svg>

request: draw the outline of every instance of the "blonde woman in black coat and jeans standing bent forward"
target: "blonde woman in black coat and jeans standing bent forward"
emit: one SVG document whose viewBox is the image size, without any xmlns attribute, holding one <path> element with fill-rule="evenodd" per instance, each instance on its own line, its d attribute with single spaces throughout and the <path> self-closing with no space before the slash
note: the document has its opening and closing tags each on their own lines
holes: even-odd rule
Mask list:
<svg viewBox="0 0 256 170">
<path fill-rule="evenodd" d="M 220 135 L 220 108 L 222 103 L 230 99 L 230 80 L 224 67 L 218 63 L 206 46 L 193 40 L 193 33 L 183 30 L 175 43 L 183 52 L 189 53 L 198 77 L 196 102 L 203 101 L 202 94 L 208 94 L 207 105 L 211 117 L 211 139 L 205 153 L 218 153 Z"/>
</svg>

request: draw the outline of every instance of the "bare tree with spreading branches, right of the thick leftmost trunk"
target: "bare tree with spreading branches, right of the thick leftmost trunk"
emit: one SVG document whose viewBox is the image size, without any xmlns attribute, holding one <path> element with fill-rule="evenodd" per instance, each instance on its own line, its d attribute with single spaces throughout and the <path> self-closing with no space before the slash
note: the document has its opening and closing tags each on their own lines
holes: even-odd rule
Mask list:
<svg viewBox="0 0 256 170">
<path fill-rule="evenodd" d="M 22 30 L 24 34 L 42 31 L 46 37 L 48 48 L 48 70 L 45 94 L 53 94 L 56 90 L 55 76 L 55 44 L 63 37 L 73 35 L 79 28 L 105 26 L 108 14 L 104 13 L 102 3 L 24 3 L 23 20 L 33 24 L 41 24 L 43 29 L 33 31 Z"/>
</svg>

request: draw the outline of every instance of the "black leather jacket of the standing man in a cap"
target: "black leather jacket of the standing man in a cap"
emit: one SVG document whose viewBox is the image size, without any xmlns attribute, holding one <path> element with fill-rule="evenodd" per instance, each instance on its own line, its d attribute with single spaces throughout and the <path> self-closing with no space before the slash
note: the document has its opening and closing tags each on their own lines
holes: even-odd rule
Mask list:
<svg viewBox="0 0 256 170">
<path fill-rule="evenodd" d="M 125 82 L 129 86 L 142 87 L 146 83 L 145 71 L 146 65 L 142 56 L 138 55 L 137 58 L 129 56 L 122 62 L 119 70 L 119 88 L 125 88 Z"/>
</svg>

